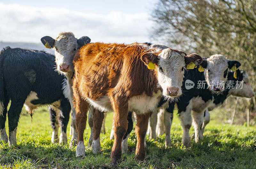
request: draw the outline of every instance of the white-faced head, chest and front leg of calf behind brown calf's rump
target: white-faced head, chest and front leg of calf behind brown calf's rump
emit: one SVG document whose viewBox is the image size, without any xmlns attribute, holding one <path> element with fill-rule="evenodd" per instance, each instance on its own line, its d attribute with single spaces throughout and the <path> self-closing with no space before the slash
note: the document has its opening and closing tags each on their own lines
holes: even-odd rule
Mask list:
<svg viewBox="0 0 256 169">
<path fill-rule="evenodd" d="M 73 91 L 72 91 L 72 78 L 74 73 L 73 59 L 80 47 L 90 43 L 91 39 L 83 36 L 79 39 L 75 38 L 72 32 L 60 32 L 56 39 L 50 36 L 41 38 L 41 42 L 46 48 L 53 48 L 55 53 L 55 62 L 57 70 L 60 74 L 64 74 L 67 79 L 67 85 L 64 88 L 64 94 L 69 99 L 71 109 L 71 128 L 70 133 L 72 138 L 69 146 L 72 147 L 77 144 L 77 131 L 76 131 L 76 112 L 73 106 Z M 52 121 L 54 123 L 54 121 Z"/>
</svg>

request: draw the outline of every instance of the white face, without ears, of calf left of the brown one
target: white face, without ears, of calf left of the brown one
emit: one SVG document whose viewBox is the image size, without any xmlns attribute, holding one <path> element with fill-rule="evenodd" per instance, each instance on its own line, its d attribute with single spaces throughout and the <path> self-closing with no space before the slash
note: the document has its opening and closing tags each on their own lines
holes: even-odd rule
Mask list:
<svg viewBox="0 0 256 169">
<path fill-rule="evenodd" d="M 73 33 L 63 32 L 59 34 L 54 45 L 55 61 L 59 72 L 66 74 L 73 71 L 73 59 L 77 49 L 77 39 Z"/>
</svg>

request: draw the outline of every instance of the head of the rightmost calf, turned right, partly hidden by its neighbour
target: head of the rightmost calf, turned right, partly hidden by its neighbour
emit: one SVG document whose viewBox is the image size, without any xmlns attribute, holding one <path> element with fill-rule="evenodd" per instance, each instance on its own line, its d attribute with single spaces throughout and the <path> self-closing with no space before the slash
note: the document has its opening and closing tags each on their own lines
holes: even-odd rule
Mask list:
<svg viewBox="0 0 256 169">
<path fill-rule="evenodd" d="M 248 74 L 239 69 L 237 70 L 237 79 L 234 78 L 233 74 L 233 71 L 228 74 L 228 80 L 234 82 L 233 88 L 230 89 L 230 94 L 238 97 L 254 97 Z"/>
</svg>

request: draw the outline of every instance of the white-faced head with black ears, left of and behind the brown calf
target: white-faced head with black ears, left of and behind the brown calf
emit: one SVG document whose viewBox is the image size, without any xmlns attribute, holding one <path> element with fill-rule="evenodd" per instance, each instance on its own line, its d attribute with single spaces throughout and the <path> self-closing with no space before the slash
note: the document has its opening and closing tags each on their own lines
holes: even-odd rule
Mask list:
<svg viewBox="0 0 256 169">
<path fill-rule="evenodd" d="M 76 39 L 72 32 L 60 32 L 56 39 L 50 36 L 41 38 L 46 48 L 53 48 L 57 70 L 62 74 L 74 71 L 73 59 L 77 50 L 91 41 L 87 36 Z"/>
</svg>

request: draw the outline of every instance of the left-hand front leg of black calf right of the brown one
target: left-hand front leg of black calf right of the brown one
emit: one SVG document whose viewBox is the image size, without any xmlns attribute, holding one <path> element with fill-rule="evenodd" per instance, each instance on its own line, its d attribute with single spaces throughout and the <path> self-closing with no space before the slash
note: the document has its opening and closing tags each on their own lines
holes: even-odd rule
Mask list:
<svg viewBox="0 0 256 169">
<path fill-rule="evenodd" d="M 180 113 L 180 121 L 183 130 L 182 144 L 186 147 L 190 146 L 189 129 L 192 124 L 191 109 L 187 107 L 186 111 Z"/>
</svg>

